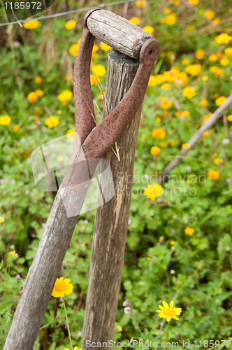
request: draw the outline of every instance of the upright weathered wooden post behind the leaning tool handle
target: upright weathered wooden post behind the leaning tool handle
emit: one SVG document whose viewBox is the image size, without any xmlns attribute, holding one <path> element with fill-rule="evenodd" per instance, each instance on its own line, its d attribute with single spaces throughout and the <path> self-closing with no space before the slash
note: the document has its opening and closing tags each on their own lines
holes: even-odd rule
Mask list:
<svg viewBox="0 0 232 350">
<path fill-rule="evenodd" d="M 110 111 L 129 90 L 138 69 L 138 61 L 110 50 L 106 99 Z M 133 163 L 142 105 L 124 133 L 119 137 L 120 162 L 110 149 L 104 158 L 110 162 L 115 184 L 115 196 L 96 209 L 89 286 L 85 308 L 82 349 L 91 342 L 113 339 L 118 296 L 121 283 L 126 233 L 133 183 Z M 100 169 L 100 172 L 102 169 Z M 100 195 L 100 194 L 99 194 Z M 101 349 L 100 347 L 98 349 Z"/>
</svg>

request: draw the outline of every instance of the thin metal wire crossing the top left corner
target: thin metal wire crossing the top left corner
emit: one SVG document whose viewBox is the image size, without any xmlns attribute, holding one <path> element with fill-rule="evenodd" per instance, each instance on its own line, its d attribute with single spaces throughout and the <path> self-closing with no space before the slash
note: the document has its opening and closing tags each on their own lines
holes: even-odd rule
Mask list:
<svg viewBox="0 0 232 350">
<path fill-rule="evenodd" d="M 107 7 L 107 6 L 119 5 L 120 3 L 129 3 L 129 2 L 133 2 L 133 1 L 136 1 L 136 0 L 124 0 L 124 1 L 115 1 L 115 2 L 112 2 L 112 3 L 101 3 L 98 6 L 90 6 L 90 7 L 85 7 L 85 8 L 78 8 L 78 10 L 71 10 L 71 11 L 66 11 L 66 12 L 54 13 L 53 15 L 48 15 L 48 16 L 35 17 L 35 18 L 27 19 L 27 20 L 18 20 L 18 21 L 15 21 L 15 22 L 0 23 L 0 27 L 3 26 L 3 25 L 18 25 L 19 23 L 31 22 L 33 20 L 46 20 L 47 18 L 55 18 L 55 17 L 64 16 L 64 15 L 70 15 L 71 13 L 87 11 L 87 10 L 91 10 L 92 8 L 96 8 L 96 7 L 104 8 L 104 7 Z"/>
</svg>

